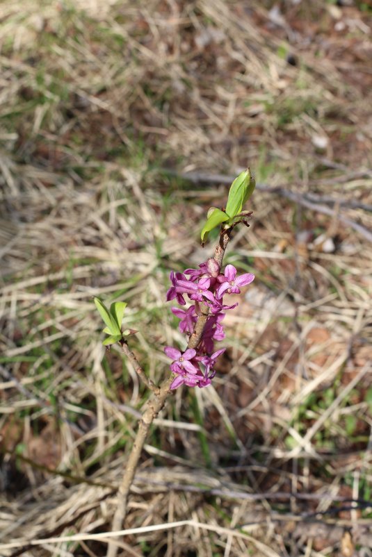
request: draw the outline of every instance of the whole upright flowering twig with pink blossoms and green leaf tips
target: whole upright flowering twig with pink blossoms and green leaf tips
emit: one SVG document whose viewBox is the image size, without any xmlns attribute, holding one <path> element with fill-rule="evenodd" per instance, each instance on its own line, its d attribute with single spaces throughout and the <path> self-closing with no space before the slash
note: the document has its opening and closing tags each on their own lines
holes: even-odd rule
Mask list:
<svg viewBox="0 0 372 557">
<path fill-rule="evenodd" d="M 136 356 L 127 345 L 124 334 L 133 334 L 135 331 L 121 332 L 121 321 L 125 306 L 120 306 L 120 315 L 118 316 L 116 315 L 118 312 L 115 312 L 115 304 L 111 306 L 111 310 L 108 312 L 104 304 L 101 301 L 97 302 L 97 299 L 95 299 L 99 313 L 106 323 L 104 331 L 110 335 L 105 341 L 106 344 L 120 343 L 124 354 L 134 365 L 136 373 L 152 391 L 152 396 L 143 406 L 136 439 L 118 489 L 118 506 L 112 523 L 113 532 L 122 529 L 122 523 L 127 515 L 129 492 L 138 461 L 150 426 L 163 408 L 165 399 L 172 390 L 179 388 L 181 385 L 197 386 L 198 388 L 207 387 L 216 374 L 216 360 L 218 356 L 223 354 L 225 348 L 215 350 L 214 342 L 225 338 L 221 324 L 225 317 L 224 312 L 237 306 L 237 304 L 231 306 L 224 304 L 223 297 L 225 294 L 240 293 L 241 286 L 248 285 L 254 280 L 254 275 L 250 273 L 237 277 L 233 265 L 227 265 L 225 272 L 221 272 L 223 258 L 234 226 L 239 222 L 247 224 L 246 219 L 251 214 L 242 211 L 242 207 L 253 190 L 254 180 L 252 180 L 249 170 L 246 170 L 232 183 L 226 210 L 216 208 L 211 208 L 212 211 L 209 210 L 207 223 L 202 230 L 202 242 L 207 238 L 207 234 L 212 228 L 222 224 L 220 239 L 213 258 L 209 258 L 205 263 L 200 264 L 199 269 L 186 269 L 184 273 L 171 272 L 170 274 L 172 286 L 167 292 L 167 301 L 177 299 L 180 306 L 186 306 L 185 296 L 187 296 L 193 303 L 186 310 L 172 308 L 172 313 L 180 319 L 179 329 L 186 334 L 188 342 L 184 351 L 175 347 L 165 347 L 165 354 L 172 360 L 170 364 L 172 375 L 165 379 L 160 387 L 156 387 L 151 380 L 147 379 Z M 109 543 L 107 557 L 115 557 L 117 552 L 118 546 Z"/>
</svg>

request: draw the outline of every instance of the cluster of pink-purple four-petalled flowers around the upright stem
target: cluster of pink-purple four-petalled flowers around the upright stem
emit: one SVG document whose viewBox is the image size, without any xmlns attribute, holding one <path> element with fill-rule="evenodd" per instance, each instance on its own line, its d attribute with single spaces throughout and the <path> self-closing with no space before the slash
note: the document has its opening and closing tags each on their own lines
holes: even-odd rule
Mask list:
<svg viewBox="0 0 372 557">
<path fill-rule="evenodd" d="M 167 292 L 167 301 L 177 299 L 181 306 L 186 306 L 185 296 L 194 303 L 188 309 L 172 308 L 172 313 L 181 319 L 179 330 L 190 336 L 195 328 L 197 318 L 202 315 L 201 306 L 208 306 L 209 313 L 204 326 L 202 338 L 196 349 L 188 348 L 184 352 L 176 348 L 165 347 L 165 354 L 171 359 L 171 371 L 176 374 L 171 389 L 180 385 L 188 387 L 207 387 L 216 374 L 216 359 L 225 352 L 225 348 L 214 351 L 214 342 L 223 340 L 225 333 L 221 324 L 225 310 L 235 308 L 223 303 L 225 294 L 240 294 L 241 286 L 250 284 L 254 274 L 245 273 L 236 276 L 236 268 L 227 265 L 225 272 L 220 272 L 216 259 L 209 258 L 199 265 L 199 269 L 186 269 L 183 273 L 170 273 L 171 288 Z"/>
</svg>

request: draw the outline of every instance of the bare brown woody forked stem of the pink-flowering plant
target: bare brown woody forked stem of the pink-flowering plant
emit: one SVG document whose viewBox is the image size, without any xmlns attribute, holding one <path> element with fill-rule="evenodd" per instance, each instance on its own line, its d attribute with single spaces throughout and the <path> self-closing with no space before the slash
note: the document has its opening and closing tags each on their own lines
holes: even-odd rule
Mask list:
<svg viewBox="0 0 372 557">
<path fill-rule="evenodd" d="M 220 242 L 216 246 L 214 258 L 216 259 L 220 267 L 222 267 L 223 264 L 223 257 L 225 255 L 225 250 L 229 242 L 230 233 L 231 228 L 229 228 L 227 231 L 224 231 L 220 235 Z M 190 339 L 188 340 L 188 348 L 196 348 L 199 344 L 204 331 L 204 326 L 207 323 L 208 315 L 209 308 L 207 306 L 202 306 L 202 315 L 199 315 L 197 317 L 194 331 L 191 334 Z M 124 354 L 126 354 L 131 363 L 134 365 L 134 369 L 136 370 L 140 379 L 144 381 L 145 374 L 142 367 L 140 366 L 140 363 L 138 363 L 136 356 L 133 354 L 133 352 L 131 352 L 126 343 L 122 344 L 122 349 L 124 351 Z M 113 517 L 113 523 L 111 526 L 112 532 L 122 529 L 123 521 L 127 515 L 129 492 L 131 489 L 131 484 L 134 480 L 134 474 L 136 474 L 136 469 L 138 466 L 138 461 L 140 460 L 143 445 L 145 444 L 145 440 L 147 438 L 147 434 L 149 433 L 152 422 L 154 422 L 154 419 L 159 414 L 161 408 L 163 408 L 164 406 L 165 399 L 168 397 L 168 394 L 170 394 L 170 385 L 173 379 L 173 376 L 165 379 L 165 381 L 163 381 L 162 385 L 159 388 L 156 388 L 156 386 L 152 382 L 151 384 L 149 384 L 147 379 L 144 381 L 145 385 L 147 385 L 147 387 L 152 390 L 153 394 L 143 408 L 143 415 L 138 425 L 136 439 L 134 440 L 131 453 L 129 454 L 127 466 L 125 467 L 124 474 L 122 476 L 122 482 L 120 483 L 118 489 L 118 506 L 116 507 L 115 515 Z M 113 543 L 109 543 L 107 557 L 116 557 L 117 553 L 118 546 Z"/>
</svg>

